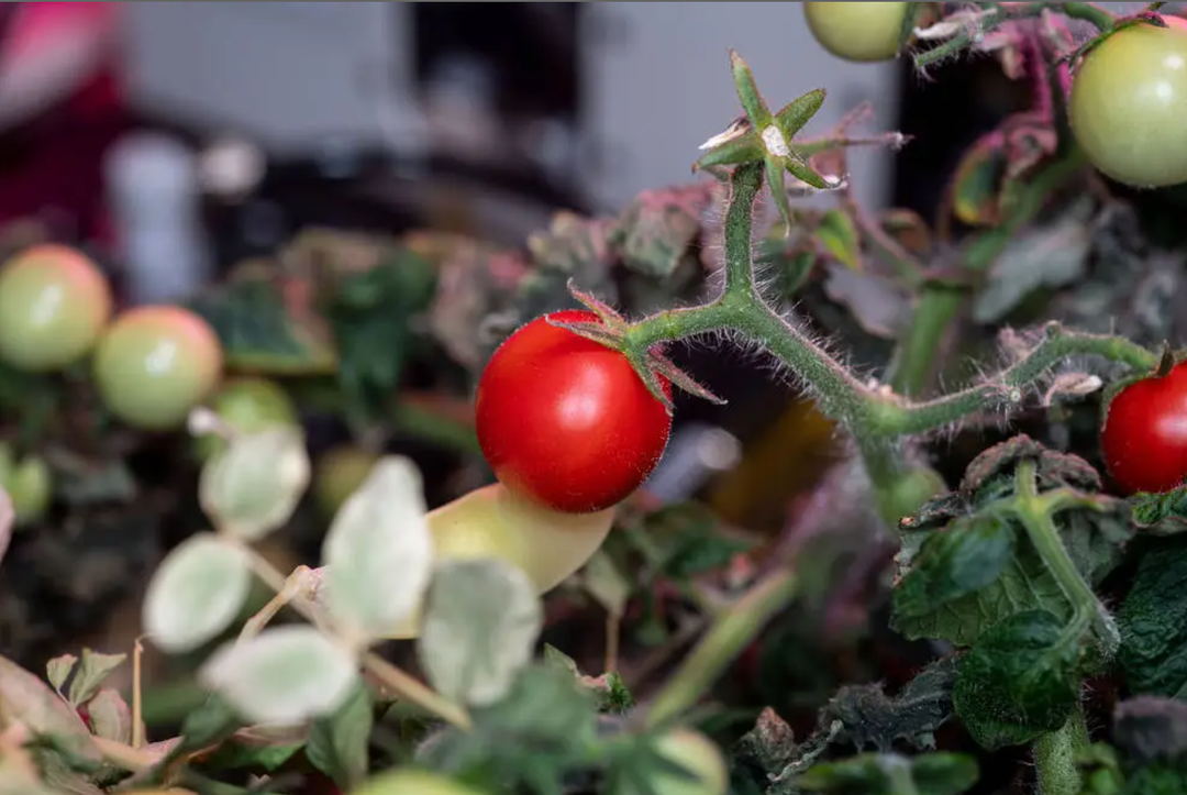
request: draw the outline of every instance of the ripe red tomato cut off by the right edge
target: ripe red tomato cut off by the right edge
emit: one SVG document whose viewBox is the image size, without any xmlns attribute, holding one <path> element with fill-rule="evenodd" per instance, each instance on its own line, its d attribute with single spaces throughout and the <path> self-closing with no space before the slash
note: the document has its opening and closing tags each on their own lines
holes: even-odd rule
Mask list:
<svg viewBox="0 0 1187 795">
<path fill-rule="evenodd" d="M 1128 492 L 1163 492 L 1187 480 L 1187 364 L 1122 389 L 1109 405 L 1100 448 Z"/>
</svg>

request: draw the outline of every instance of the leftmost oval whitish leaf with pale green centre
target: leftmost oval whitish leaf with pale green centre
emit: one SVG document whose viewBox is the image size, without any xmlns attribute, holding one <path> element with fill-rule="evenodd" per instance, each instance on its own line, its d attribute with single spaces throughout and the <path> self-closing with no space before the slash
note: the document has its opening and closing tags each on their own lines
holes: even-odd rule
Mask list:
<svg viewBox="0 0 1187 795">
<path fill-rule="evenodd" d="M 250 588 L 245 550 L 211 534 L 191 536 L 161 561 L 148 582 L 145 631 L 164 651 L 192 651 L 230 626 Z"/>
</svg>

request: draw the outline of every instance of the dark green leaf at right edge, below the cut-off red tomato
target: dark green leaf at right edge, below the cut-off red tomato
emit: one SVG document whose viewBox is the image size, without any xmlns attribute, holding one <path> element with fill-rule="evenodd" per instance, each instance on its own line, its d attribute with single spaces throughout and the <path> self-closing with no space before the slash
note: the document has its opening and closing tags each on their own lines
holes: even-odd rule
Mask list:
<svg viewBox="0 0 1187 795">
<path fill-rule="evenodd" d="M 1117 620 L 1130 690 L 1187 700 L 1187 537 L 1147 550 Z"/>
</svg>

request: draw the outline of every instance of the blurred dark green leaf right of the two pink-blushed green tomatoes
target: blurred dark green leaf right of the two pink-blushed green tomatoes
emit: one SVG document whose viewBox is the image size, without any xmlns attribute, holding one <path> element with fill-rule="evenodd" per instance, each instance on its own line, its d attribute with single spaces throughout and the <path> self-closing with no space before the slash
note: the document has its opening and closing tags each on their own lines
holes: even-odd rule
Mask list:
<svg viewBox="0 0 1187 795">
<path fill-rule="evenodd" d="M 222 342 L 233 370 L 286 374 L 324 374 L 337 354 L 319 317 L 287 308 L 284 283 L 274 276 L 231 280 L 188 302 Z"/>
</svg>

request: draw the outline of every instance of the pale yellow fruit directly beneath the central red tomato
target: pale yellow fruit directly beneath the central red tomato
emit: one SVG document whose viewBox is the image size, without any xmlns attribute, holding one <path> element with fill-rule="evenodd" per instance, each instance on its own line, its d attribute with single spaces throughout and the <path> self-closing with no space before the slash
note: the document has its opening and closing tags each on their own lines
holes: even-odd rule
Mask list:
<svg viewBox="0 0 1187 795">
<path fill-rule="evenodd" d="M 521 569 L 545 593 L 585 566 L 610 534 L 614 509 L 561 513 L 519 497 L 502 484 L 477 488 L 427 516 L 437 560 L 493 557 Z M 419 617 L 393 627 L 414 638 Z"/>
</svg>

